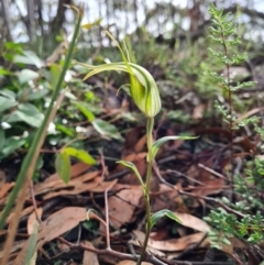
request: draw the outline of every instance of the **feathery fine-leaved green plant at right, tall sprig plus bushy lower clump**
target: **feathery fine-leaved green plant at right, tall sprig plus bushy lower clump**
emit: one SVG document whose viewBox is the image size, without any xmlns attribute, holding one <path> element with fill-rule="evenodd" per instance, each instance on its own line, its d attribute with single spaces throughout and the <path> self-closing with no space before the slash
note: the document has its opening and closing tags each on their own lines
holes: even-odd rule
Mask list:
<svg viewBox="0 0 264 265">
<path fill-rule="evenodd" d="M 210 37 L 222 47 L 221 52 L 209 48 L 210 54 L 219 59 L 226 66 L 226 76 L 219 75 L 216 71 L 210 71 L 210 76 L 223 89 L 222 95 L 227 101 L 216 102 L 217 110 L 222 114 L 223 121 L 228 123 L 231 133 L 231 156 L 230 164 L 232 164 L 232 142 L 233 131 L 248 124 L 253 124 L 256 131 L 262 130 L 257 126 L 258 118 L 253 117 L 237 121 L 233 110 L 233 95 L 239 89 L 252 87 L 255 82 L 244 81 L 235 82 L 230 78 L 230 67 L 239 65 L 246 59 L 246 53 L 235 54 L 235 46 L 240 43 L 239 36 L 235 35 L 234 19 L 230 19 L 230 13 L 223 14 L 222 10 L 217 9 L 210 4 L 209 12 L 211 14 L 212 26 L 210 27 Z M 260 213 L 263 206 L 261 202 L 261 190 L 263 190 L 263 161 L 255 158 L 249 163 L 246 168 L 248 177 L 233 177 L 231 172 L 231 184 L 234 184 L 234 190 L 240 198 L 240 202 L 232 203 L 229 199 L 223 198 L 222 203 L 228 205 L 234 209 L 234 213 L 227 212 L 222 208 L 210 211 L 209 216 L 205 218 L 213 230 L 209 233 L 211 245 L 221 249 L 222 244 L 230 244 L 230 238 L 238 236 L 248 240 L 251 243 L 256 243 L 264 240 L 264 218 Z M 254 190 L 253 190 L 254 189 Z M 258 190 L 258 196 L 257 192 Z M 253 213 L 256 212 L 256 213 Z M 239 213 L 239 214 L 235 214 Z"/>
</svg>

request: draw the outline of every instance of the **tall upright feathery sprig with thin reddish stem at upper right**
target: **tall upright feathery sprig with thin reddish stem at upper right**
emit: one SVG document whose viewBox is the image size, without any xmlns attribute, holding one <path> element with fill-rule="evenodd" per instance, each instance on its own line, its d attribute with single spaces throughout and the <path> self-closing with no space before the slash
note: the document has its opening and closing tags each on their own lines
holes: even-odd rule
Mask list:
<svg viewBox="0 0 264 265">
<path fill-rule="evenodd" d="M 221 47 L 220 52 L 208 48 L 210 54 L 219 59 L 224 66 L 227 75 L 219 75 L 216 71 L 209 71 L 210 76 L 213 77 L 219 87 L 222 89 L 222 95 L 227 99 L 227 104 L 224 102 L 216 102 L 216 108 L 223 118 L 223 121 L 228 123 L 229 131 L 231 134 L 231 147 L 230 147 L 230 164 L 232 164 L 233 156 L 233 122 L 237 117 L 233 111 L 233 92 L 245 87 L 254 86 L 254 81 L 234 82 L 230 77 L 230 67 L 233 65 L 239 65 L 244 62 L 248 57 L 246 53 L 235 54 L 234 47 L 240 43 L 240 37 L 235 35 L 235 24 L 234 19 L 230 19 L 231 13 L 223 14 L 223 10 L 217 9 L 212 3 L 209 8 L 209 13 L 211 14 L 210 26 L 210 38 L 219 44 Z M 244 123 L 251 122 L 250 120 L 244 121 Z M 233 180 L 233 173 L 231 172 L 231 181 Z"/>
</svg>

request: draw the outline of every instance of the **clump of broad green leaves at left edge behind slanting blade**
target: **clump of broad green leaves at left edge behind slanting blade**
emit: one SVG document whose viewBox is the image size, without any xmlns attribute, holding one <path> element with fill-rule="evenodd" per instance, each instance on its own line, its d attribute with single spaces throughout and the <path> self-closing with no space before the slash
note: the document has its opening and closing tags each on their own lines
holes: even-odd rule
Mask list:
<svg viewBox="0 0 264 265">
<path fill-rule="evenodd" d="M 48 93 L 46 86 L 40 82 L 42 88 L 38 89 L 34 84 L 41 78 L 40 67 L 44 62 L 33 52 L 23 51 L 21 44 L 7 42 L 2 55 L 6 68 L 0 68 L 0 161 L 30 145 L 31 131 L 40 128 L 44 119 L 43 98 Z"/>
</svg>

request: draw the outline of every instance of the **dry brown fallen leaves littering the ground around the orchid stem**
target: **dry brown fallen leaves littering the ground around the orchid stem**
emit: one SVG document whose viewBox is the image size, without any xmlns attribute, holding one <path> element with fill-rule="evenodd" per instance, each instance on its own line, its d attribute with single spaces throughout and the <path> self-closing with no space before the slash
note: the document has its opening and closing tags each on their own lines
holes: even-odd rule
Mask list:
<svg viewBox="0 0 264 265">
<path fill-rule="evenodd" d="M 198 104 L 194 108 L 193 118 L 201 121 L 204 112 L 205 104 Z M 177 130 L 165 121 L 155 134 L 157 137 L 170 136 L 177 134 Z M 200 129 L 198 125 L 194 131 L 194 135 L 202 137 L 216 133 L 227 139 L 230 136 L 228 132 L 217 126 Z M 167 218 L 163 218 L 154 227 L 147 250 L 157 257 L 167 261 L 177 260 L 187 250 L 189 254 L 187 254 L 186 261 L 200 261 L 202 264 L 200 256 L 205 256 L 206 251 L 210 249 L 206 234 L 211 231 L 211 228 L 202 220 L 202 217 L 208 212 L 208 207 L 212 207 L 212 205 L 206 200 L 206 197 L 213 198 L 228 192 L 230 189 L 228 177 L 221 173 L 224 172 L 222 170 L 224 167 L 229 166 L 229 163 L 224 146 L 219 150 L 211 142 L 205 143 L 202 140 L 194 141 L 195 148 L 197 148 L 197 152 L 194 153 L 190 146 L 193 143 L 187 144 L 184 140 L 170 141 L 157 153 L 156 162 L 162 178 L 155 172 L 153 173 L 151 188 L 153 213 L 168 209 L 180 220 L 180 223 L 173 223 Z M 234 144 L 245 152 L 254 150 L 254 144 L 248 136 L 235 139 Z M 141 126 L 135 126 L 127 133 L 119 159 L 132 162 L 144 176 L 146 172 L 145 156 L 145 133 Z M 127 244 L 132 245 L 134 252 L 141 249 L 145 217 L 144 197 L 139 180 L 133 172 L 125 170 L 120 164 L 117 164 L 107 175 L 103 166 L 107 167 L 102 164 L 101 167 L 91 167 L 85 163 L 76 163 L 70 167 L 67 185 L 59 179 L 57 174 L 34 185 L 33 192 L 37 214 L 43 221 L 36 225 L 35 208 L 32 206 L 29 192 L 26 205 L 20 216 L 21 225 L 10 255 L 10 265 L 23 264 L 30 236 L 34 233 L 36 234 L 34 252 L 37 254 L 35 264 L 42 265 L 45 262 L 59 261 L 56 260 L 56 255 L 61 255 L 59 258 L 69 262 L 70 258 L 65 253 L 59 253 L 59 244 L 64 244 L 59 241 L 59 236 L 72 243 L 81 243 L 90 250 L 105 250 L 107 247 L 107 217 L 110 227 L 110 244 L 113 250 L 121 249 L 122 252 L 129 253 L 131 249 L 127 247 Z M 13 185 L 12 181 L 1 183 L 1 207 L 7 201 Z M 105 200 L 107 189 L 109 189 L 108 197 Z M 107 209 L 106 202 L 108 203 Z M 89 209 L 96 210 L 91 214 L 92 218 Z M 1 236 L 7 235 L 11 221 L 12 213 Z M 23 228 L 25 223 L 26 229 Z M 249 245 L 243 241 L 231 239 L 230 242 L 230 245 L 222 245 L 222 252 L 227 253 L 227 256 L 233 256 L 237 249 L 249 252 Z M 53 246 L 53 251 L 51 251 L 51 246 Z M 76 264 L 135 264 L 133 261 L 109 258 L 106 254 L 84 251 L 81 247 L 72 249 L 73 246 L 67 246 L 69 253 L 75 255 L 77 253 Z M 1 254 L 2 252 L 0 252 L 0 258 Z M 251 252 L 248 255 L 250 256 Z"/>
</svg>

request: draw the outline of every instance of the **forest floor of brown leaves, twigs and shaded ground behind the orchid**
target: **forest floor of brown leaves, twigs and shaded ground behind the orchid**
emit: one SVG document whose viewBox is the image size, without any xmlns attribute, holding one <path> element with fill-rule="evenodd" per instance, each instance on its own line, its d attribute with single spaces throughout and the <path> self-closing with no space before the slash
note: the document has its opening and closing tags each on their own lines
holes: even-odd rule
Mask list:
<svg viewBox="0 0 264 265">
<path fill-rule="evenodd" d="M 240 201 L 241 195 L 234 191 L 233 177 L 245 175 L 245 163 L 256 154 L 258 135 L 251 126 L 231 133 L 217 114 L 213 98 L 205 100 L 187 88 L 172 90 L 169 80 L 161 80 L 158 69 L 150 70 L 154 78 L 160 79 L 163 99 L 162 114 L 155 119 L 154 139 L 169 135 L 198 137 L 169 141 L 157 153 L 151 179 L 152 212 L 168 209 L 180 223 L 168 218 L 156 223 L 147 246 L 148 263 L 144 264 L 261 264 L 261 254 L 255 254 L 260 247 L 254 245 L 254 250 L 244 240 L 230 238 L 230 244 L 219 240 L 221 250 L 211 247 L 207 235 L 212 227 L 204 220 L 210 210 L 217 208 L 239 216 L 240 212 L 221 198 L 234 203 Z M 98 77 L 91 85 L 100 86 L 102 82 Z M 125 122 L 123 114 L 136 111 L 135 107 L 122 92 L 116 96 L 118 86 L 114 80 L 109 79 L 107 86 L 107 96 L 100 89 L 97 92 L 102 117 L 119 128 L 121 137 L 111 137 L 116 132 L 110 132 L 109 135 L 84 140 L 87 150 L 97 157 L 98 165 L 74 161 L 67 185 L 51 167 L 41 169 L 40 180 L 29 188 L 10 264 L 22 264 L 35 225 L 41 228 L 36 235 L 38 251 L 31 264 L 135 264 L 135 254 L 140 254 L 145 231 L 144 197 L 135 174 L 116 162 L 132 162 L 141 176 L 145 176 L 145 120 L 135 115 L 134 121 Z M 239 97 L 246 98 L 248 91 L 242 91 Z M 255 102 L 249 111 L 237 113 L 238 121 L 242 117 L 262 113 L 263 108 Z M 54 159 L 52 150 L 42 152 L 46 161 Z M 15 184 L 15 163 L 14 159 L 7 162 L 2 170 L 1 206 Z M 1 231 L 1 249 L 11 223 L 12 213 L 6 230 Z M 220 238 L 221 231 L 218 232 Z"/>
</svg>

